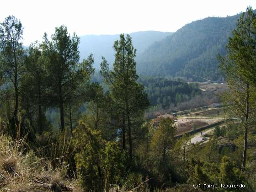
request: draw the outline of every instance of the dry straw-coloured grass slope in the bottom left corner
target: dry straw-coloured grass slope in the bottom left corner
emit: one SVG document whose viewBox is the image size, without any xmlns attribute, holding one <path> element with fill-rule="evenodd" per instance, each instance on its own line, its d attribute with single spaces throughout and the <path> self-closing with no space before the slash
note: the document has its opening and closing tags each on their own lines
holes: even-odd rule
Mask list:
<svg viewBox="0 0 256 192">
<path fill-rule="evenodd" d="M 12 141 L 0 135 L 1 192 L 81 191 L 75 189 L 76 181 L 62 178 L 66 167 L 47 170 L 51 163 L 32 151 L 24 154 L 24 146 L 25 139 Z"/>
</svg>

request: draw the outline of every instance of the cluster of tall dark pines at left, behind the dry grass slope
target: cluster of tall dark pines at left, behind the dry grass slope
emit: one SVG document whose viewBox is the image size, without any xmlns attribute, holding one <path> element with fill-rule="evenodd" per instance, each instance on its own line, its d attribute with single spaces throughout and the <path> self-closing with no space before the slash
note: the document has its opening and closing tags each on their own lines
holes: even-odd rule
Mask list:
<svg viewBox="0 0 256 192">
<path fill-rule="evenodd" d="M 3 101 L 8 100 L 2 106 L 7 110 L 11 134 L 16 138 L 26 132 L 26 125 L 21 125 L 19 119 L 23 109 L 22 117 L 35 132 L 42 133 L 46 123 L 44 112 L 53 106 L 60 109 L 63 131 L 64 111 L 69 111 L 71 121 L 73 104 L 86 100 L 86 85 L 94 72 L 93 56 L 79 63 L 79 37 L 75 33 L 70 36 L 64 26 L 56 27 L 50 39 L 45 33 L 42 43 L 31 43 L 26 50 L 21 42 L 22 33 L 21 22 L 14 16 L 1 23 L 1 94 Z M 71 130 L 72 127 L 70 122 Z"/>
</svg>

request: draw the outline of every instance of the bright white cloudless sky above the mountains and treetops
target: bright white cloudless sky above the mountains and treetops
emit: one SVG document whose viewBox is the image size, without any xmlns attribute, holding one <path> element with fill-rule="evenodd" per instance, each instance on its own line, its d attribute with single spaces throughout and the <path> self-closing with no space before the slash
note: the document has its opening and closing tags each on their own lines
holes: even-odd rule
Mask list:
<svg viewBox="0 0 256 192">
<path fill-rule="evenodd" d="M 1 0 L 0 22 L 13 15 L 23 29 L 23 44 L 42 40 L 65 25 L 70 33 L 119 34 L 176 32 L 208 16 L 232 16 L 256 0 Z"/>
</svg>

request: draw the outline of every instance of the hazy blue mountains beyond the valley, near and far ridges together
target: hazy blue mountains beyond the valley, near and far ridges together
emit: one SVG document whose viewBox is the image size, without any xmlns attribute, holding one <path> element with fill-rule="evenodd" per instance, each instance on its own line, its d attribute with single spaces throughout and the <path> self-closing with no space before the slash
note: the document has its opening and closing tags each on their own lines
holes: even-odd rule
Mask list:
<svg viewBox="0 0 256 192">
<path fill-rule="evenodd" d="M 236 26 L 239 14 L 227 17 L 207 17 L 193 21 L 176 32 L 134 32 L 133 46 L 137 49 L 137 70 L 141 75 L 181 77 L 187 80 L 223 80 L 218 69 L 218 54 Z M 113 42 L 119 35 L 87 35 L 80 37 L 80 59 L 90 53 L 95 68 L 100 69 L 101 57 L 112 66 Z M 202 78 L 203 77 L 203 78 Z"/>
</svg>

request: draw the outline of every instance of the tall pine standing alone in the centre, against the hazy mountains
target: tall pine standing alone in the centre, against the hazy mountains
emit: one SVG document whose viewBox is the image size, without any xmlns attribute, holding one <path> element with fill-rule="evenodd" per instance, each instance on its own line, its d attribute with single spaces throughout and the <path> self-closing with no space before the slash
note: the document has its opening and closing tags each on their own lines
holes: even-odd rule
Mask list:
<svg viewBox="0 0 256 192">
<path fill-rule="evenodd" d="M 132 121 L 137 116 L 142 115 L 141 112 L 149 106 L 149 101 L 144 87 L 136 82 L 138 80 L 136 62 L 134 60 L 136 49 L 133 48 L 132 38 L 129 35 L 124 37 L 124 34 L 121 34 L 120 40 L 115 41 L 113 47 L 116 52 L 113 70 L 109 70 L 107 60 L 102 58 L 101 74 L 105 82 L 110 86 L 114 102 L 122 111 L 124 123 L 127 122 L 129 159 L 132 161 Z M 124 132 L 125 128 L 122 130 Z M 125 137 L 125 133 L 123 137 Z M 125 138 L 123 138 L 124 140 Z"/>
</svg>

